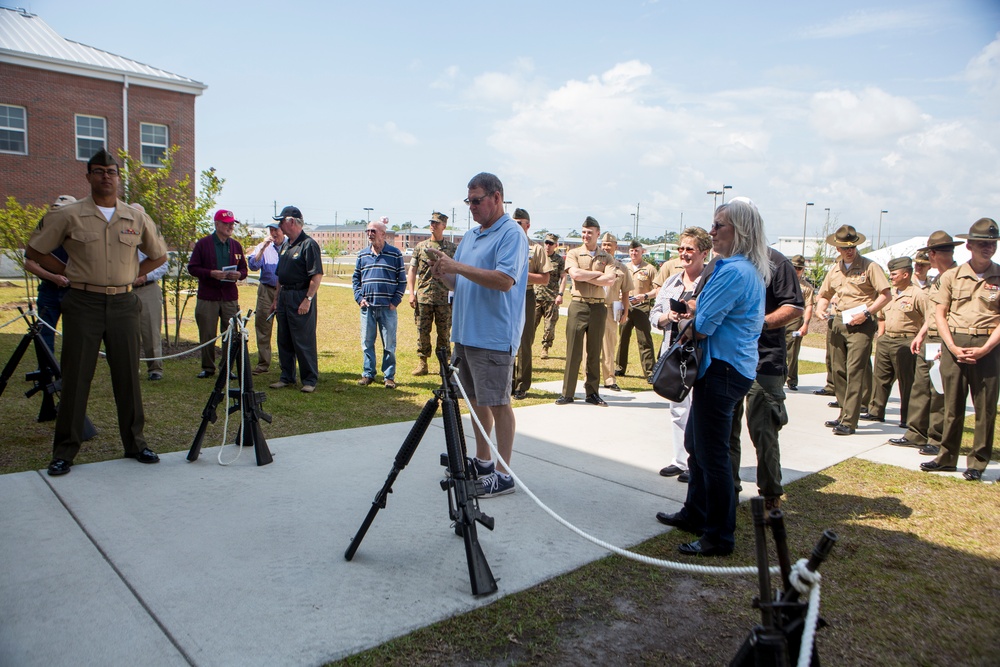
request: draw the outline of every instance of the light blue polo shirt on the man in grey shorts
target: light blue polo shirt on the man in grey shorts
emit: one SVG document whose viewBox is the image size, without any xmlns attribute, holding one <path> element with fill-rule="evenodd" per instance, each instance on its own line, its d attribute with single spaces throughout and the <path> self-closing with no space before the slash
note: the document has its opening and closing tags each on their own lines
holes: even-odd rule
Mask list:
<svg viewBox="0 0 1000 667">
<path fill-rule="evenodd" d="M 455 261 L 502 271 L 514 279 L 506 292 L 455 276 L 451 340 L 514 354 L 524 327 L 524 290 L 528 284 L 528 237 L 506 213 L 489 229 L 479 227 L 462 237 Z"/>
</svg>

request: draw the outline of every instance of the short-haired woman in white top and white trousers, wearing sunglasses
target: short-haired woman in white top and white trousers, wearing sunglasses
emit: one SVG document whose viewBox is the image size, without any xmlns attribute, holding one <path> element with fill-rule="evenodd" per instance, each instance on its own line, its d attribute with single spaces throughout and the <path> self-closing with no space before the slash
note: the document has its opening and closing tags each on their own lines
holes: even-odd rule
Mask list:
<svg viewBox="0 0 1000 667">
<path fill-rule="evenodd" d="M 670 299 L 687 303 L 692 300 L 695 288 L 705 270 L 705 262 L 712 250 L 712 237 L 701 227 L 688 227 L 681 232 L 677 242 L 677 255 L 682 270 L 667 278 L 656 295 L 656 303 L 649 311 L 649 321 L 663 330 L 662 354 L 673 343 L 677 335 L 677 321 L 681 313 L 671 310 Z M 688 410 L 691 408 L 691 394 L 680 403 L 669 403 L 670 421 L 673 424 L 674 460 L 660 470 L 664 477 L 677 475 L 677 481 L 688 481 L 687 452 L 684 450 L 684 428 L 687 426 Z"/>
</svg>

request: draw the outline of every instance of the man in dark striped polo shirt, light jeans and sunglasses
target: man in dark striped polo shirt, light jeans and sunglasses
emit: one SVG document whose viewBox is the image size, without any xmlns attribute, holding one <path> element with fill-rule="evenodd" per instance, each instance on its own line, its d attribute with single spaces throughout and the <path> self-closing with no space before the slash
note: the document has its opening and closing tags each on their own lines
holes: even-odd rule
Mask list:
<svg viewBox="0 0 1000 667">
<path fill-rule="evenodd" d="M 382 337 L 382 376 L 387 389 L 396 388 L 396 308 L 406 292 L 403 253 L 385 242 L 388 218 L 369 222 L 371 245 L 358 254 L 354 267 L 354 300 L 361 306 L 361 349 L 364 364 L 358 384 L 375 381 L 375 334 Z"/>
</svg>

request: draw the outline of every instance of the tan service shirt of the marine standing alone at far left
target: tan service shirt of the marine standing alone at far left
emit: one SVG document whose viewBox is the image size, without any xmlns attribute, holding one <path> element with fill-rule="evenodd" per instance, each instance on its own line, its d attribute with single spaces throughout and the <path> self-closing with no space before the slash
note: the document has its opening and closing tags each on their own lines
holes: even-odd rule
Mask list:
<svg viewBox="0 0 1000 667">
<path fill-rule="evenodd" d="M 28 245 L 48 254 L 60 245 L 69 261 L 70 282 L 101 287 L 131 285 L 139 275 L 139 254 L 159 259 L 166 243 L 148 215 L 118 200 L 111 222 L 91 197 L 45 214 Z"/>
</svg>

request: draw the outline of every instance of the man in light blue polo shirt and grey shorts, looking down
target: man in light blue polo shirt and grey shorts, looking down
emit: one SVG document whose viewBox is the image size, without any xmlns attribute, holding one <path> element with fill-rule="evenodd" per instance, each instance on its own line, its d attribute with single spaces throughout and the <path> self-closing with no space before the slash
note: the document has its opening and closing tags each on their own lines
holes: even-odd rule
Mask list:
<svg viewBox="0 0 1000 667">
<path fill-rule="evenodd" d="M 428 249 L 434 277 L 455 290 L 452 304 L 452 355 L 459 379 L 487 433 L 496 424 L 497 449 L 510 461 L 514 449 L 514 410 L 510 380 L 524 326 L 524 291 L 528 284 L 528 237 L 503 210 L 503 184 L 482 173 L 469 181 L 469 198 L 479 227 L 468 232 L 455 258 Z M 493 462 L 479 429 L 475 466 L 485 498 L 514 492 L 514 480 Z"/>
</svg>

